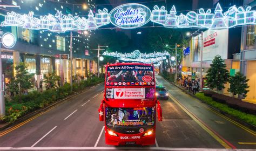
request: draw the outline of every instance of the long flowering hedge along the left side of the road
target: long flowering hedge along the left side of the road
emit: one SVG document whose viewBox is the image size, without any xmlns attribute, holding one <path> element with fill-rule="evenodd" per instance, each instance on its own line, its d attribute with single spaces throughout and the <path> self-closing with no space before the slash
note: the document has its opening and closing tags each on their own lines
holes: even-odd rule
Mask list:
<svg viewBox="0 0 256 151">
<path fill-rule="evenodd" d="M 80 91 L 85 87 L 102 83 L 103 81 L 104 78 L 89 78 L 87 81 L 74 83 L 73 91 Z M 36 109 L 48 106 L 59 99 L 65 98 L 71 93 L 71 86 L 69 83 L 66 83 L 62 87 L 56 89 L 52 88 L 50 90 L 43 91 L 42 93 L 32 91 L 29 92 L 28 95 L 22 95 L 22 103 L 20 103 L 18 95 L 12 98 L 12 100 L 5 99 L 6 115 L 2 119 L 10 123 L 15 122 L 21 116 L 24 116 L 29 112 L 33 112 Z"/>
</svg>

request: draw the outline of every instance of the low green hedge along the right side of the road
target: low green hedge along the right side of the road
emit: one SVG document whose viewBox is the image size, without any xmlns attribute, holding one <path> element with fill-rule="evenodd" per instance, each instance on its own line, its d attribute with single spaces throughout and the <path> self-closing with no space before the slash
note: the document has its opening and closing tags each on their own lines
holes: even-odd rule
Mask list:
<svg viewBox="0 0 256 151">
<path fill-rule="evenodd" d="M 229 107 L 227 104 L 221 104 L 219 102 L 214 101 L 211 97 L 206 97 L 203 93 L 196 93 L 195 96 L 203 101 L 206 102 L 206 104 L 211 105 L 220 111 L 223 111 L 227 114 L 230 114 L 234 116 L 235 118 L 238 118 L 242 121 L 245 121 L 247 123 L 250 123 L 254 126 L 256 126 L 256 115 L 248 114 L 241 112 L 237 109 Z M 231 101 L 231 100 L 229 100 Z"/>
</svg>

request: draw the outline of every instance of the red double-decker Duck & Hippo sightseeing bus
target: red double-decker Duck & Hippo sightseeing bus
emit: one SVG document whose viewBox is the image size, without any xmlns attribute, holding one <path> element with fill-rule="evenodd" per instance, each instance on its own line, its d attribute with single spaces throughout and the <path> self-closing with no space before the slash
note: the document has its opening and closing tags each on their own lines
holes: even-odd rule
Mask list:
<svg viewBox="0 0 256 151">
<path fill-rule="evenodd" d="M 99 120 L 105 122 L 108 145 L 152 145 L 156 138 L 154 66 L 142 63 L 106 65 L 105 93 L 99 107 Z"/>
</svg>

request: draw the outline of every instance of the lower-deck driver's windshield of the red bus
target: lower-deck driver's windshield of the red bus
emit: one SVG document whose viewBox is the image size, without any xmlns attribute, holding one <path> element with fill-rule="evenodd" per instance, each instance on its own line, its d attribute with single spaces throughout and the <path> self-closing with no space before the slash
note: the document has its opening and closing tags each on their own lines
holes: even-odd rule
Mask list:
<svg viewBox="0 0 256 151">
<path fill-rule="evenodd" d="M 112 127 L 141 127 L 154 125 L 155 107 L 106 107 L 106 125 Z"/>
</svg>

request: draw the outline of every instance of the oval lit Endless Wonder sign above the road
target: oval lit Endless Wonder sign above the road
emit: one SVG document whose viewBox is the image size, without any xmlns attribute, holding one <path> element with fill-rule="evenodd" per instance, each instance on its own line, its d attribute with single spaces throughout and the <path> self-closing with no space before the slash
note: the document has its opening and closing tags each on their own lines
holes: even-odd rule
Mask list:
<svg viewBox="0 0 256 151">
<path fill-rule="evenodd" d="M 149 22 L 151 11 L 145 5 L 131 3 L 117 6 L 109 15 L 113 25 L 123 29 L 133 29 Z"/>
</svg>

